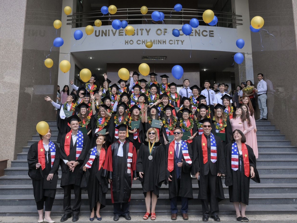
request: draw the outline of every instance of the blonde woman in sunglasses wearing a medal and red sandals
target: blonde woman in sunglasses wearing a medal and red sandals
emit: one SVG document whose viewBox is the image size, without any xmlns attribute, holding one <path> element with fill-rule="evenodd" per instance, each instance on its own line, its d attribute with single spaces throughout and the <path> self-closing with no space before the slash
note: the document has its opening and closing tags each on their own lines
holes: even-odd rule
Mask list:
<svg viewBox="0 0 297 223">
<path fill-rule="evenodd" d="M 166 173 L 165 149 L 159 143 L 159 137 L 155 128 L 149 128 L 146 133 L 146 142 L 140 146 L 136 171 L 139 172 L 139 180 L 142 184 L 146 201 L 146 213 L 143 219 L 148 219 L 151 214 L 151 220 L 155 220 L 159 188 L 165 180 Z"/>
</svg>

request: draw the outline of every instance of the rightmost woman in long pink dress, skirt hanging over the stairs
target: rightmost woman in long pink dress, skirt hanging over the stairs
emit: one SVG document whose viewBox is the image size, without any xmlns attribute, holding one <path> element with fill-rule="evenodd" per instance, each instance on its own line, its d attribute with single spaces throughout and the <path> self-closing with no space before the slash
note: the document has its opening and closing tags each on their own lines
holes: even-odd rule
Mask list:
<svg viewBox="0 0 297 223">
<path fill-rule="evenodd" d="M 241 108 L 245 111 L 245 114 L 247 116 L 247 125 L 254 126 L 254 129 L 255 129 L 256 123 L 255 123 L 255 120 L 253 120 L 252 116 L 249 115 L 250 114 L 249 107 L 247 105 L 242 105 Z M 256 158 L 258 158 L 258 144 L 257 144 L 256 133 L 254 131 L 249 131 L 246 134 L 246 139 L 247 139 L 246 144 L 252 147 Z"/>
</svg>

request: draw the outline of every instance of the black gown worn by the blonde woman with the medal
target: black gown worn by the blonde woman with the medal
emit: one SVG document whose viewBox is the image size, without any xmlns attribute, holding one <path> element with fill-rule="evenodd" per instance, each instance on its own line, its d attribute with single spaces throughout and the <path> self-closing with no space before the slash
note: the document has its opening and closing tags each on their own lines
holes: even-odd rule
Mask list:
<svg viewBox="0 0 297 223">
<path fill-rule="evenodd" d="M 149 143 L 145 142 L 140 146 L 136 171 L 143 172 L 143 178 L 138 178 L 143 188 L 144 197 L 146 192 L 152 191 L 159 197 L 159 188 L 165 180 L 166 175 L 166 162 L 165 162 L 165 149 L 162 144 L 156 142 L 153 147 L 153 159 L 149 160 Z"/>
</svg>

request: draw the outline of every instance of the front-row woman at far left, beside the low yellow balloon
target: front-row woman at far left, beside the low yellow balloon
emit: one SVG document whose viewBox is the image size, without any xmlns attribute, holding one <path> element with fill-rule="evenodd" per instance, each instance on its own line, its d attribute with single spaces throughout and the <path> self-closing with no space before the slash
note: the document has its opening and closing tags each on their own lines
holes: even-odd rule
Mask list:
<svg viewBox="0 0 297 223">
<path fill-rule="evenodd" d="M 53 202 L 56 196 L 58 169 L 59 169 L 59 146 L 50 141 L 51 131 L 40 141 L 30 146 L 28 151 L 28 175 L 32 179 L 33 194 L 39 214 L 38 223 L 54 223 L 50 218 Z M 43 205 L 45 203 L 45 216 L 43 219 Z"/>
</svg>

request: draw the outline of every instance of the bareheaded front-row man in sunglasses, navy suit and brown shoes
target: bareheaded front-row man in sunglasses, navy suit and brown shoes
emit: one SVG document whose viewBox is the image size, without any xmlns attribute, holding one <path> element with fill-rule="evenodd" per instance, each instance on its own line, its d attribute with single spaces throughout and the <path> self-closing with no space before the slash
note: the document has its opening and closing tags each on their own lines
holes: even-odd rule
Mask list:
<svg viewBox="0 0 297 223">
<path fill-rule="evenodd" d="M 165 184 L 169 188 L 171 220 L 177 219 L 177 199 L 181 198 L 181 215 L 188 220 L 188 200 L 193 198 L 192 191 L 192 148 L 181 140 L 183 131 L 175 128 L 174 140 L 165 146 L 167 171 Z"/>
</svg>

